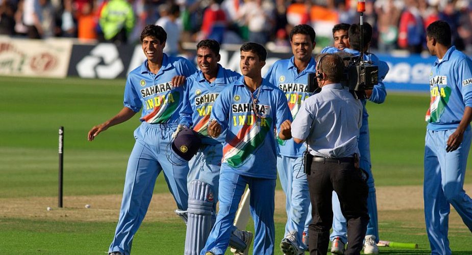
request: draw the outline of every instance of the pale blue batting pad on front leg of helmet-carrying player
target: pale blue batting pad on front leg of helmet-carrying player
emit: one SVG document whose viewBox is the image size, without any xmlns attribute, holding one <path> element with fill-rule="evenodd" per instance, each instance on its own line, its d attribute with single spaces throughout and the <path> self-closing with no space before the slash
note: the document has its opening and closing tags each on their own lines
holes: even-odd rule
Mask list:
<svg viewBox="0 0 472 255">
<path fill-rule="evenodd" d="M 188 221 L 184 254 L 198 255 L 205 246 L 212 228 L 213 191 L 207 183 L 193 180 L 188 192 Z"/>
</svg>

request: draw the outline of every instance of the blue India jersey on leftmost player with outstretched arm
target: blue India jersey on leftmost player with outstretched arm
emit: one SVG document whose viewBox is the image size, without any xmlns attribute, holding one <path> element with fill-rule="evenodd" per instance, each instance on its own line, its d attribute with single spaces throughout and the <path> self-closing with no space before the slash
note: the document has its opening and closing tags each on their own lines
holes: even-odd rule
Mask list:
<svg viewBox="0 0 472 255">
<path fill-rule="evenodd" d="M 162 67 L 157 74 L 147 69 L 147 60 L 128 74 L 123 105 L 138 112 L 142 107 L 141 122 L 178 123 L 184 87 L 173 87 L 172 77 L 195 73 L 195 65 L 182 57 L 164 53 Z"/>
</svg>

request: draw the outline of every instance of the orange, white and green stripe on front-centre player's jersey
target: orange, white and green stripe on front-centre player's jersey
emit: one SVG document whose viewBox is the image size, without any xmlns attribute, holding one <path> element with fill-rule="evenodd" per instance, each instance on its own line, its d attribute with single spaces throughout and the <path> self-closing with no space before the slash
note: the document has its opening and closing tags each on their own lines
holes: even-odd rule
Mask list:
<svg viewBox="0 0 472 255">
<path fill-rule="evenodd" d="M 252 115 L 251 118 L 257 118 Z M 223 163 L 230 166 L 238 167 L 262 144 L 270 130 L 272 120 L 266 118 L 263 120 L 266 125 L 260 126 L 254 123 L 253 125 L 244 125 L 239 130 L 236 137 L 223 147 Z"/>
</svg>

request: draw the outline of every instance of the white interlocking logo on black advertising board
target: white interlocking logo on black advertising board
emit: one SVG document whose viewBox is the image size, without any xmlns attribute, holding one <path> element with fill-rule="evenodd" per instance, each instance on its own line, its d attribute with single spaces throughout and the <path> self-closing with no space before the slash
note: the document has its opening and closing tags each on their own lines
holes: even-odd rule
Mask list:
<svg viewBox="0 0 472 255">
<path fill-rule="evenodd" d="M 98 44 L 77 64 L 77 72 L 82 78 L 114 79 L 123 70 L 125 66 L 113 43 Z"/>
</svg>

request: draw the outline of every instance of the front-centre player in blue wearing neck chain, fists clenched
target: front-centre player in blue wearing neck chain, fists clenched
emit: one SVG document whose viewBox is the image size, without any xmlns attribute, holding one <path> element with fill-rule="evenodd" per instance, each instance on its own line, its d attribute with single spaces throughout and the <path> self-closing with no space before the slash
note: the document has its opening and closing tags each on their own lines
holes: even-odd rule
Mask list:
<svg viewBox="0 0 472 255">
<path fill-rule="evenodd" d="M 228 248 L 233 221 L 246 185 L 254 219 L 253 254 L 274 254 L 274 195 L 277 153 L 274 130 L 292 117 L 285 94 L 262 78 L 267 51 L 257 43 L 241 46 L 242 77 L 217 97 L 208 126 L 218 137 L 226 130 L 219 177 L 219 212 L 201 255 L 221 255 Z M 289 127 L 288 127 L 289 129 Z"/>
</svg>

